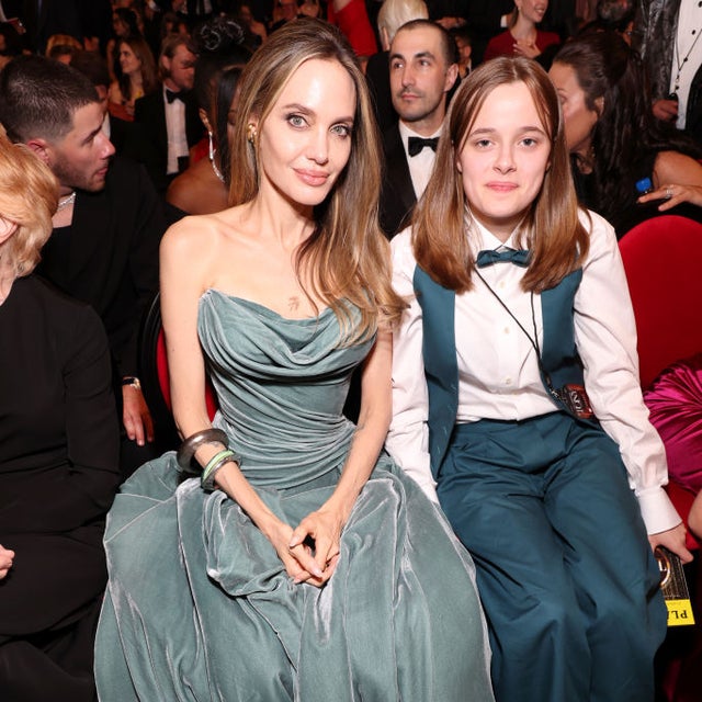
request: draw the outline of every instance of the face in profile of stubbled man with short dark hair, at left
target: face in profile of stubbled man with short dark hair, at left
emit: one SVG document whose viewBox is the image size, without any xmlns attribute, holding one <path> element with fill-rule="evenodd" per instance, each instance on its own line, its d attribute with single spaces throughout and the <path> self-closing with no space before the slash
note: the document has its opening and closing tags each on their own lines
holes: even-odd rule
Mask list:
<svg viewBox="0 0 702 702">
<path fill-rule="evenodd" d="M 103 120 L 99 102 L 78 107 L 73 128 L 60 141 L 49 145 L 48 165 L 65 188 L 97 192 L 105 186 L 114 146 L 102 131 Z"/>
</svg>

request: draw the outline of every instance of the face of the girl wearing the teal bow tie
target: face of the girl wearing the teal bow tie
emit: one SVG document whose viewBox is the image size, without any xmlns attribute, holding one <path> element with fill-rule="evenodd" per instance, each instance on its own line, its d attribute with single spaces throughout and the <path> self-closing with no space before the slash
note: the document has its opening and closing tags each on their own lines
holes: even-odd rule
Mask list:
<svg viewBox="0 0 702 702">
<path fill-rule="evenodd" d="M 523 82 L 495 88 L 458 154 L 473 216 L 506 241 L 541 191 L 551 138 Z"/>
</svg>

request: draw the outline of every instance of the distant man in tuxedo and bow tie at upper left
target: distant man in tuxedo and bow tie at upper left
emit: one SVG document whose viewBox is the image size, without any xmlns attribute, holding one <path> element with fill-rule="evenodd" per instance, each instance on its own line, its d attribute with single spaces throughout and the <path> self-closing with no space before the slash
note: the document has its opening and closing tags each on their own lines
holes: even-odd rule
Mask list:
<svg viewBox="0 0 702 702">
<path fill-rule="evenodd" d="M 160 90 L 139 98 L 134 121 L 144 137 L 141 161 L 159 193 L 188 168 L 189 149 L 203 134 L 197 102 L 192 92 L 195 78 L 195 52 L 188 37 L 168 36 L 161 45 Z"/>
</svg>

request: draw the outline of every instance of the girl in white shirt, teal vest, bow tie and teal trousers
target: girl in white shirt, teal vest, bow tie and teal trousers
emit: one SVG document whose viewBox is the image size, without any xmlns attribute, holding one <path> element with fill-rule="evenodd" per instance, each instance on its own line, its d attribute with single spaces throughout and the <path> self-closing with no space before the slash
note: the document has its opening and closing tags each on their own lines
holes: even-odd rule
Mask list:
<svg viewBox="0 0 702 702">
<path fill-rule="evenodd" d="M 497 700 L 653 700 L 666 608 L 648 542 L 691 555 L 616 239 L 578 211 L 536 64 L 496 59 L 460 88 L 393 252 L 411 304 L 386 446 L 473 554 Z"/>
</svg>

